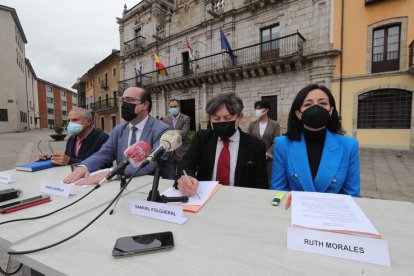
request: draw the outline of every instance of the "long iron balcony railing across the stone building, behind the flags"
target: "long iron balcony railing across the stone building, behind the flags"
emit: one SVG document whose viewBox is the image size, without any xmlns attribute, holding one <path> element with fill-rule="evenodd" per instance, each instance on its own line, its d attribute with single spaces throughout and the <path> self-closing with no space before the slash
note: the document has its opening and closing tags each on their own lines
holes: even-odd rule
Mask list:
<svg viewBox="0 0 414 276">
<path fill-rule="evenodd" d="M 232 53 L 222 52 L 166 67 L 168 76 L 158 74 L 158 70 L 119 82 L 119 90 L 131 86 L 147 86 L 190 75 L 222 71 L 255 63 L 281 60 L 293 56 L 303 56 L 305 38 L 299 33 L 274 40 L 235 49 Z"/>
</svg>

